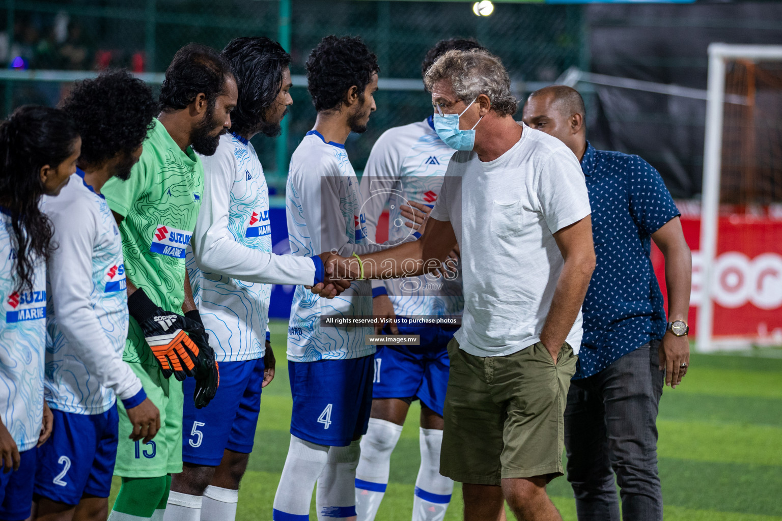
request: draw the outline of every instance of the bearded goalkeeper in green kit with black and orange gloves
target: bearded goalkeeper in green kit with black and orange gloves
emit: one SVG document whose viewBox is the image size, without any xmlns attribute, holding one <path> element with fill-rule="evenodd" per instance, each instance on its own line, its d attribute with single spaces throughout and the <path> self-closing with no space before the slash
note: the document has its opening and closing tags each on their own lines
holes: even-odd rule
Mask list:
<svg viewBox="0 0 782 521">
<path fill-rule="evenodd" d="M 203 193 L 198 155 L 212 155 L 231 127 L 237 88 L 231 66 L 204 45 L 181 48 L 166 70 L 161 112 L 127 181 L 102 188 L 120 225 L 130 329 L 123 358 L 160 409 L 152 441 L 131 441 L 122 405 L 114 473 L 122 487 L 109 519 L 163 519 L 171 473 L 182 470 L 181 380 L 195 377 L 196 407 L 214 396 L 217 364 L 185 272 L 187 247 Z M 174 376 L 171 378 L 170 376 Z M 142 430 L 145 427 L 142 426 Z M 135 433 L 138 434 L 138 433 Z"/>
</svg>

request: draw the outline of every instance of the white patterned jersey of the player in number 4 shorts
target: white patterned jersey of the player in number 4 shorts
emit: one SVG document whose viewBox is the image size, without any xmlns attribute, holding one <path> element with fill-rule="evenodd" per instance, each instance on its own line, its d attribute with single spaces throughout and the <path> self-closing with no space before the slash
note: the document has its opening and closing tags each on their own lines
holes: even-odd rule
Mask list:
<svg viewBox="0 0 782 521">
<path fill-rule="evenodd" d="M 293 255 L 318 255 L 335 251 L 350 256 L 375 252 L 370 244 L 361 192 L 344 145 L 326 142 L 310 130 L 293 152 L 285 210 Z M 364 344 L 371 327 L 321 327 L 321 316 L 372 314 L 369 280 L 353 281 L 350 288 L 328 300 L 296 287 L 288 328 L 288 359 L 314 362 L 321 359 L 354 359 L 375 353 Z"/>
</svg>

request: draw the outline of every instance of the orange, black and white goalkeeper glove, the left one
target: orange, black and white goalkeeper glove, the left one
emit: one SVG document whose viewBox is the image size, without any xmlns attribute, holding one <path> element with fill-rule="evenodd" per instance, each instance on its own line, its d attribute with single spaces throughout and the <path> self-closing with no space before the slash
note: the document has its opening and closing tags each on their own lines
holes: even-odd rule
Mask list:
<svg viewBox="0 0 782 521">
<path fill-rule="evenodd" d="M 199 347 L 185 334 L 183 316 L 160 308 L 140 287 L 127 298 L 127 311 L 142 328 L 163 376 L 174 374 L 181 381 L 195 374 Z"/>
</svg>

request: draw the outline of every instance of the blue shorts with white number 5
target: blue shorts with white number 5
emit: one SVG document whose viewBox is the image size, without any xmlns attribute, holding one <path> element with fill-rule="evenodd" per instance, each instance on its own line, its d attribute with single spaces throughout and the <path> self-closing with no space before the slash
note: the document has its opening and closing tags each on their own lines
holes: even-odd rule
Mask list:
<svg viewBox="0 0 782 521">
<path fill-rule="evenodd" d="M 218 466 L 224 449 L 253 451 L 260 411 L 260 385 L 264 383 L 264 359 L 220 362 L 220 387 L 209 405 L 195 409 L 195 379 L 182 382 L 182 461 Z"/>
</svg>

